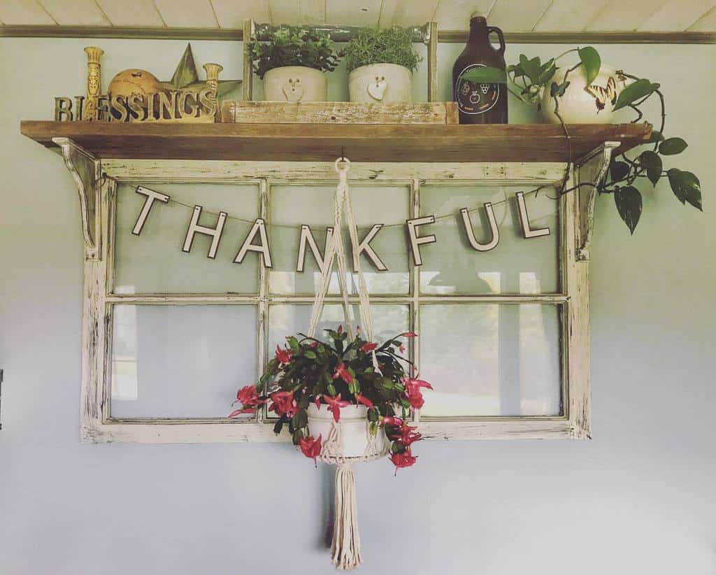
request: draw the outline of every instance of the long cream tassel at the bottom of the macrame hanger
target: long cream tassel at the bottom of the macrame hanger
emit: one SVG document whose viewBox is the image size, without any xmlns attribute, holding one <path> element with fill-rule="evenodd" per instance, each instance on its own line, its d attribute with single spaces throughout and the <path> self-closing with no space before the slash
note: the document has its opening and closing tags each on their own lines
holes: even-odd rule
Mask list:
<svg viewBox="0 0 716 575">
<path fill-rule="evenodd" d="M 332 563 L 339 571 L 360 565 L 360 536 L 356 506 L 356 480 L 350 465 L 336 470 L 336 521 L 333 529 Z"/>
</svg>

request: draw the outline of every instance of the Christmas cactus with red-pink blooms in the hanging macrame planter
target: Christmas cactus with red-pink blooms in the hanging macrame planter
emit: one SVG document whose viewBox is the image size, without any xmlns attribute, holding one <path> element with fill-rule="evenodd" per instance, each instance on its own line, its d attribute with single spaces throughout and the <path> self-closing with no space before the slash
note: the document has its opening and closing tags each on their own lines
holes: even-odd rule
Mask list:
<svg viewBox="0 0 716 575">
<path fill-rule="evenodd" d="M 287 427 L 294 445 L 315 461 L 325 438 L 310 435 L 309 405 L 328 410 L 336 422 L 342 407 L 364 405 L 371 435 L 384 433 L 390 441 L 396 471 L 410 467 L 417 459 L 412 444 L 422 436 L 407 420 L 410 411 L 425 402 L 421 389 L 432 389 L 429 383 L 410 377 L 412 364 L 403 357 L 405 340 L 416 334 L 405 332 L 377 344 L 363 339 L 360 329 L 352 341 L 342 327 L 325 331 L 330 343 L 299 334 L 287 337 L 284 347 L 276 346 L 276 356 L 258 383 L 238 390 L 235 403 L 240 406 L 229 417 L 254 413 L 268 404 L 269 411 L 279 417 L 274 432 Z"/>
</svg>

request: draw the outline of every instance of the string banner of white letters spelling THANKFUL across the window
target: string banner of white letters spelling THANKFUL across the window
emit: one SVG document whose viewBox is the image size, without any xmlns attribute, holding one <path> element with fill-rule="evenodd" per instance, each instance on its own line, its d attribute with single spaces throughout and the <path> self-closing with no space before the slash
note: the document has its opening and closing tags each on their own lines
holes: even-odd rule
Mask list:
<svg viewBox="0 0 716 575">
<path fill-rule="evenodd" d="M 538 189 L 528 193 L 536 193 Z M 142 234 L 142 229 L 144 228 L 145 223 L 147 223 L 147 219 L 150 217 L 150 213 L 152 212 L 152 208 L 155 206 L 155 203 L 168 203 L 171 198 L 165 193 L 150 190 L 150 188 L 145 188 L 145 186 L 143 185 L 137 186 L 136 193 L 145 196 L 145 201 L 142 205 L 142 209 L 137 215 L 137 221 L 135 222 L 134 228 L 132 228 L 132 233 L 135 236 L 140 236 Z M 517 192 L 515 194 L 515 200 L 517 203 L 519 222 L 523 237 L 525 239 L 531 239 L 549 236 L 549 228 L 531 227 L 530 218 L 527 211 L 527 205 L 525 202 L 525 193 Z M 485 215 L 487 216 L 487 221 L 490 226 L 490 239 L 489 241 L 486 241 L 484 243 L 480 243 L 477 238 L 475 238 L 473 223 L 470 220 L 471 211 L 468 210 L 468 208 L 460 208 L 460 223 L 462 223 L 462 226 L 465 231 L 465 236 L 468 238 L 470 246 L 472 246 L 475 251 L 493 250 L 498 246 L 498 243 L 500 242 L 500 231 L 498 228 L 497 219 L 495 218 L 495 211 L 493 209 L 493 205 L 497 204 L 486 202 L 482 208 L 485 210 Z M 192 208 L 192 206 L 188 207 Z M 229 216 L 227 212 L 220 211 L 218 213 L 218 217 L 216 218 L 216 224 L 214 227 L 202 226 L 199 223 L 202 211 L 202 206 L 193 206 L 191 218 L 188 221 L 188 227 L 184 237 L 182 251 L 189 253 L 191 251 L 195 236 L 197 234 L 203 234 L 204 236 L 208 236 L 211 238 L 211 245 L 209 246 L 209 250 L 206 256 L 208 258 L 214 259 L 216 258 L 216 251 L 218 250 L 219 241 L 221 241 L 221 235 L 223 233 L 224 224 L 226 223 L 226 218 L 228 218 Z M 473 210 L 473 212 L 474 211 L 475 210 Z M 420 246 L 425 246 L 427 244 L 437 242 L 435 234 L 430 233 L 430 229 L 427 228 L 427 226 L 430 226 L 430 224 L 435 223 L 436 218 L 440 217 L 444 216 L 422 216 L 420 218 L 412 218 L 405 221 L 407 241 L 410 247 L 410 252 L 412 253 L 413 261 L 415 262 L 416 266 L 422 266 Z M 271 268 L 273 264 L 271 260 L 271 246 L 269 245 L 269 236 L 268 233 L 266 233 L 266 222 L 262 218 L 256 218 L 249 223 L 252 224 L 251 230 L 248 231 L 246 237 L 243 238 L 240 244 L 238 244 L 238 251 L 236 252 L 236 257 L 233 258 L 233 261 L 235 264 L 241 264 L 243 262 L 243 259 L 246 258 L 246 254 L 248 252 L 255 252 L 259 256 L 261 256 L 261 258 L 263 258 L 263 265 L 267 268 Z M 387 266 L 380 258 L 379 254 L 376 253 L 376 251 L 370 245 L 370 243 L 374 240 L 374 238 L 378 235 L 378 233 L 383 227 L 384 224 L 375 223 L 371 226 L 371 228 L 363 236 L 363 238 L 358 238 L 359 244 L 357 246 L 356 253 L 357 257 L 360 257 L 361 255 L 366 256 L 370 263 L 378 271 L 389 271 Z M 321 250 L 316 243 L 314 232 L 311 230 L 310 226 L 307 226 L 306 224 L 301 224 L 299 228 L 301 230 L 301 236 L 299 239 L 299 251 L 296 258 L 296 271 L 304 271 L 307 250 L 311 251 L 311 254 L 314 256 L 316 263 L 319 266 L 319 269 L 321 269 L 321 272 L 324 271 L 324 267 L 326 266 L 327 262 L 325 260 L 324 253 L 321 253 Z M 325 239 L 327 244 L 329 239 L 333 236 L 333 228 L 328 227 L 325 229 Z M 354 271 L 357 271 L 357 261 L 353 261 L 353 268 Z"/>
</svg>

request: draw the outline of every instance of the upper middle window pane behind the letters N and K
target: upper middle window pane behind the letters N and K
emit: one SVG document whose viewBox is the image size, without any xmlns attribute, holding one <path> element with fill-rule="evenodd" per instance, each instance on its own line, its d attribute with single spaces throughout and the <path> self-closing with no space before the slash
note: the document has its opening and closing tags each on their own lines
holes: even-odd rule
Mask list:
<svg viewBox="0 0 716 575">
<path fill-rule="evenodd" d="M 304 271 L 296 271 L 301 238 L 300 226 L 306 224 L 311 227 L 321 254 L 325 254 L 326 226 L 333 225 L 335 193 L 334 186 L 271 186 L 269 231 L 271 253 L 274 256 L 274 268 L 269 271 L 271 293 L 316 293 L 321 274 L 310 248 L 306 247 Z M 365 253 L 360 261 L 370 293 L 407 294 L 410 290 L 410 274 L 404 227 L 405 220 L 410 217 L 408 215 L 409 188 L 352 186 L 351 198 L 358 224 L 359 240 L 363 240 L 374 224 L 384 224 L 370 242 L 370 246 L 388 270 L 378 271 Z M 343 231 L 343 238 L 348 266 L 352 271 L 353 260 L 347 228 Z M 349 276 L 349 289 L 355 293 L 357 277 L 355 274 Z M 335 271 L 329 293 L 339 293 Z"/>
</svg>

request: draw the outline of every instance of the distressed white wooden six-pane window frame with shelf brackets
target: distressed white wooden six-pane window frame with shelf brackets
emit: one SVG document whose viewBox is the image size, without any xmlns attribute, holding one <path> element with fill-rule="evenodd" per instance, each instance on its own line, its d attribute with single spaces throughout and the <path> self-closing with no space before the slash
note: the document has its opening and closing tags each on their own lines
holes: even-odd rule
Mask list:
<svg viewBox="0 0 716 575">
<path fill-rule="evenodd" d="M 112 294 L 117 183 L 258 183 L 260 217 L 266 218 L 271 185 L 335 182 L 332 163 L 233 162 L 227 160 L 100 160 L 71 140 L 57 138 L 65 163 L 77 183 L 85 241 L 82 329 L 82 393 L 80 437 L 87 443 L 127 441 L 139 443 L 231 443 L 287 441 L 273 433 L 273 422 L 259 413 L 256 420 L 228 419 L 122 419 L 110 416 L 112 307 L 115 304 L 241 304 L 258 306 L 258 334 L 266 334 L 269 306 L 268 276 L 259 269 L 258 296 L 204 294 Z M 574 163 L 574 184 L 599 180 L 618 142 L 606 142 Z M 411 190 L 412 217 L 420 213 L 420 185 L 558 184 L 563 163 L 354 163 L 352 180 L 407 185 Z M 431 439 L 572 438 L 591 435 L 589 379 L 589 241 L 594 214 L 594 188 L 584 186 L 567 193 L 559 205 L 558 294 L 433 296 L 441 302 L 558 304 L 561 317 L 562 415 L 518 417 L 423 417 L 416 413 L 420 431 Z M 418 330 L 417 274 L 412 266 L 411 296 L 375 296 L 376 302 L 404 303 L 412 311 L 411 328 Z M 339 298 L 329 298 L 326 301 Z M 271 296 L 271 301 L 309 303 L 307 296 Z M 266 337 L 258 337 L 258 367 L 266 361 Z M 415 359 L 419 349 L 413 349 Z M 229 401 L 229 398 L 227 401 Z"/>
</svg>

